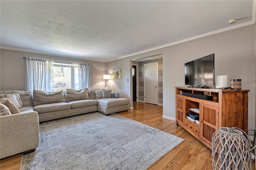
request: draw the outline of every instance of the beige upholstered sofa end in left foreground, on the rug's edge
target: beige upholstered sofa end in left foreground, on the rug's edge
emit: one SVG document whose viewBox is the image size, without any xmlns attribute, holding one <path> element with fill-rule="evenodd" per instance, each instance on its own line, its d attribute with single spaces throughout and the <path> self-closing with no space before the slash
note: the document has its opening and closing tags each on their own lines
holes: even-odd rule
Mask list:
<svg viewBox="0 0 256 170">
<path fill-rule="evenodd" d="M 36 149 L 39 119 L 36 111 L 0 116 L 0 158 Z"/>
</svg>

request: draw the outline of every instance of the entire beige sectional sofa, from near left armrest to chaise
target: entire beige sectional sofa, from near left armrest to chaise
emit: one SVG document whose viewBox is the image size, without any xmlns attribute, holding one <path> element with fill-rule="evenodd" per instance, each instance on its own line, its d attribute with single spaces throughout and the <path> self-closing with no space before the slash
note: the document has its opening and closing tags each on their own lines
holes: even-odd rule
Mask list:
<svg viewBox="0 0 256 170">
<path fill-rule="evenodd" d="M 0 158 L 33 152 L 39 144 L 39 122 L 96 111 L 110 115 L 128 110 L 129 104 L 125 98 L 110 98 L 113 94 L 107 88 L 34 90 L 33 100 L 27 91 L 1 90 L 0 94 L 19 94 L 22 102 L 20 113 L 0 116 Z"/>
</svg>

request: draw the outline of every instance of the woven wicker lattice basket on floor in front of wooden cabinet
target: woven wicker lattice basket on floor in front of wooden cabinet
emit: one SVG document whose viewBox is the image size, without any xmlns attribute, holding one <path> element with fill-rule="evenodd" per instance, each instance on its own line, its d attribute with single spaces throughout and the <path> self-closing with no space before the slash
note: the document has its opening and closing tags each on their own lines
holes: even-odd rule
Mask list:
<svg viewBox="0 0 256 170">
<path fill-rule="evenodd" d="M 220 127 L 212 137 L 213 169 L 251 170 L 251 149 L 250 138 L 242 129 Z"/>
</svg>

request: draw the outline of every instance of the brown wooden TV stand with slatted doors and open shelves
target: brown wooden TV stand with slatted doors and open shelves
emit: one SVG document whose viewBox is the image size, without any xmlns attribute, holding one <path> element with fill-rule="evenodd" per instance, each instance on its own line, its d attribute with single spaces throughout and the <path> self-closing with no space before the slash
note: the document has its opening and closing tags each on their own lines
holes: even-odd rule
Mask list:
<svg viewBox="0 0 256 170">
<path fill-rule="evenodd" d="M 247 132 L 250 90 L 175 88 L 176 124 L 186 129 L 208 148 L 212 149 L 212 135 L 220 127 L 238 127 Z M 209 98 L 205 96 L 212 96 L 210 98 L 213 100 L 207 100 Z M 199 113 L 194 108 L 199 108 Z M 188 113 L 199 114 L 199 125 L 186 118 Z"/>
</svg>

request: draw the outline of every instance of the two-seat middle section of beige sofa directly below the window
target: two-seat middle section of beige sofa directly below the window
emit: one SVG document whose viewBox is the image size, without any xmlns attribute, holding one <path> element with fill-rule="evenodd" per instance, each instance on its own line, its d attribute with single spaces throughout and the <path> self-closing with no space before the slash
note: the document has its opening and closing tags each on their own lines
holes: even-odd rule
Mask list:
<svg viewBox="0 0 256 170">
<path fill-rule="evenodd" d="M 34 90 L 33 106 L 34 110 L 38 112 L 40 122 L 97 111 L 97 101 L 84 98 L 86 94 L 88 96 L 87 90 L 76 92 L 70 89 L 69 91 L 73 91 L 73 94 L 65 96 L 66 93 L 62 90 L 57 92 Z M 77 97 L 71 99 L 69 96 Z"/>
</svg>

